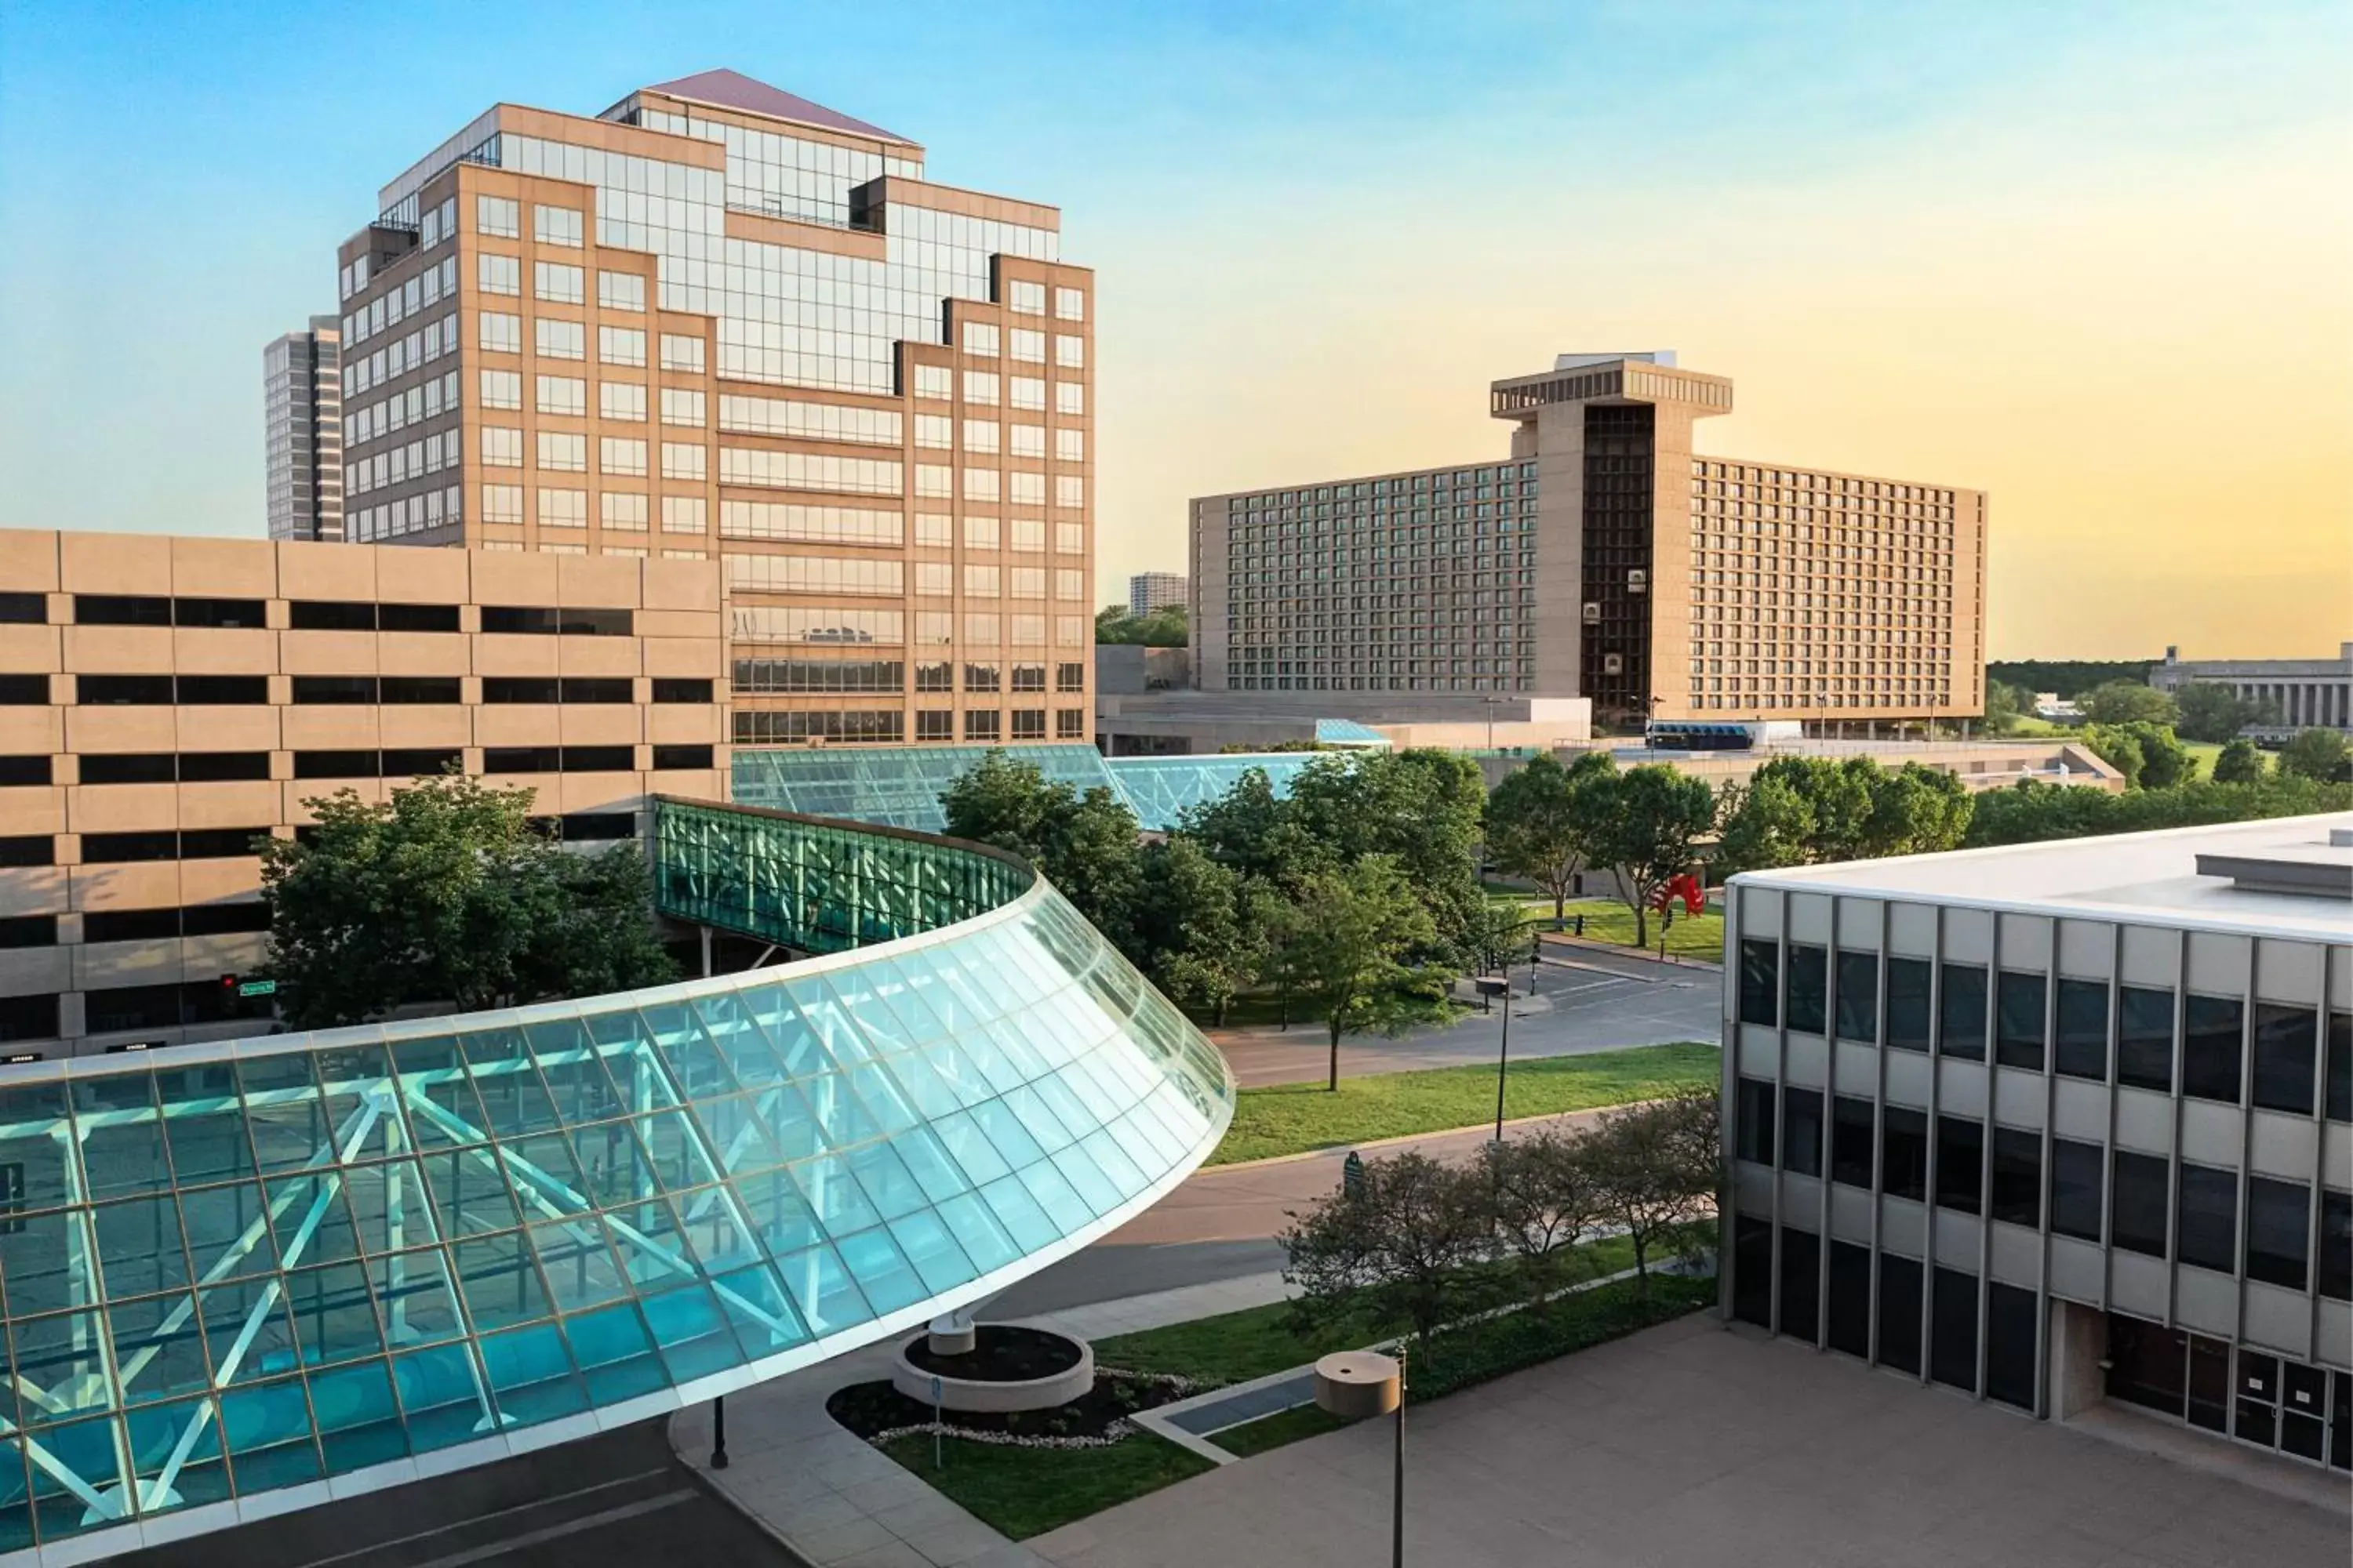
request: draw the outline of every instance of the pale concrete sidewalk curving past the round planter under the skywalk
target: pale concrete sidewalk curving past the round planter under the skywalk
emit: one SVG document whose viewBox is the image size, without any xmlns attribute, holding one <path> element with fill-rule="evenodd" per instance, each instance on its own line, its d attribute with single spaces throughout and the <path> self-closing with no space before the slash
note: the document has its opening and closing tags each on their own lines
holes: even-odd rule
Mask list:
<svg viewBox="0 0 2353 1568">
<path fill-rule="evenodd" d="M 1249 1274 L 1019 1321 L 1099 1340 L 1282 1298 L 1280 1274 Z M 896 1345 L 868 1345 L 729 1396 L 727 1469 L 711 1469 L 711 1406 L 671 1418 L 671 1448 L 812 1568 L 1049 1568 L 826 1415 L 835 1389 L 889 1378 Z"/>
</svg>

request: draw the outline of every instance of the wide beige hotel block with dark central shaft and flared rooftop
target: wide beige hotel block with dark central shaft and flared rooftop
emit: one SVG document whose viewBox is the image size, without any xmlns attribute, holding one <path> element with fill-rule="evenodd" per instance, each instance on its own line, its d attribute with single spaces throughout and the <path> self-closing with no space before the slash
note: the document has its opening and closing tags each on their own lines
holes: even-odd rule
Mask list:
<svg viewBox="0 0 2353 1568">
<path fill-rule="evenodd" d="M 1664 353 L 1562 355 L 1489 411 L 1501 461 L 1193 501 L 1195 684 L 1617 726 L 1984 712 L 1981 491 L 1699 456 L 1732 381 Z"/>
</svg>

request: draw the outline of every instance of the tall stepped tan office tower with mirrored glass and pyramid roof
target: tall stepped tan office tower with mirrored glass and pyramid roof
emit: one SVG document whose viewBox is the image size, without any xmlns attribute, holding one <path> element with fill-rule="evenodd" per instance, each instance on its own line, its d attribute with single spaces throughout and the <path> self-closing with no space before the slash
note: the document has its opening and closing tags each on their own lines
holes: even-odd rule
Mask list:
<svg viewBox="0 0 2353 1568">
<path fill-rule="evenodd" d="M 1059 223 L 732 71 L 501 103 L 341 247 L 351 536 L 722 557 L 746 743 L 1087 741 Z"/>
</svg>

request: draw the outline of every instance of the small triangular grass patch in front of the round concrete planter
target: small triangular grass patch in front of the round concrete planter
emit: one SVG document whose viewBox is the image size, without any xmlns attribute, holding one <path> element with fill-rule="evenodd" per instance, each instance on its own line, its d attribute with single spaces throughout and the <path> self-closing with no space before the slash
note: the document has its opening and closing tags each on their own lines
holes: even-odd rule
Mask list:
<svg viewBox="0 0 2353 1568">
<path fill-rule="evenodd" d="M 882 1443 L 901 1469 L 1012 1540 L 1045 1535 L 1115 1502 L 1214 1469 L 1209 1460 L 1148 1432 L 1108 1448 L 1012 1448 L 1002 1443 L 941 1443 L 944 1467 L 932 1469 L 929 1434 Z"/>
</svg>

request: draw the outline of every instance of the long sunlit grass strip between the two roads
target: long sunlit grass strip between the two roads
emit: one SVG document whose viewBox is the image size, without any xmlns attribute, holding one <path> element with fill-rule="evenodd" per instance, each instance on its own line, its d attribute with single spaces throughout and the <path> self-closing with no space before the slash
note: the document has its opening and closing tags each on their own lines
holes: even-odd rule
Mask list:
<svg viewBox="0 0 2353 1568">
<path fill-rule="evenodd" d="M 1701 1041 L 1548 1056 L 1511 1065 L 1504 1114 L 1548 1117 L 1626 1105 L 1692 1084 L 1715 1084 L 1720 1077 L 1720 1048 Z M 1322 1084 L 1245 1088 L 1233 1105 L 1233 1126 L 1209 1164 L 1445 1133 L 1492 1117 L 1494 1067 L 1485 1065 L 1341 1079 L 1337 1093 Z"/>
</svg>

